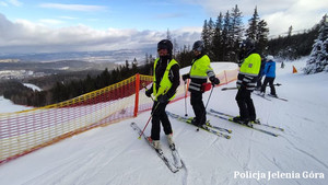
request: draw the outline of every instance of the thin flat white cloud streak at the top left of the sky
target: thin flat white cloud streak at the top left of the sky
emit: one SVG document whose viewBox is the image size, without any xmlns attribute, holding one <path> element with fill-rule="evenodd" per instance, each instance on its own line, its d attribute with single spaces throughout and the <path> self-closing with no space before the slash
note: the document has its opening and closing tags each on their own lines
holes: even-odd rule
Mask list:
<svg viewBox="0 0 328 185">
<path fill-rule="evenodd" d="M 106 10 L 103 5 L 84 5 L 84 4 L 62 4 L 62 3 L 42 3 L 42 8 L 73 10 L 73 11 L 102 11 Z"/>
</svg>

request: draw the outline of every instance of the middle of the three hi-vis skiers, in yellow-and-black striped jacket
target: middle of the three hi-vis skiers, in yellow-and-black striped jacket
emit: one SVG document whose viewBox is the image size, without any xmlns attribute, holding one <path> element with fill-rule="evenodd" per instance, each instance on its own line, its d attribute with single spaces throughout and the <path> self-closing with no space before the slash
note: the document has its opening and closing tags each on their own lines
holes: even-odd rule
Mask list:
<svg viewBox="0 0 328 185">
<path fill-rule="evenodd" d="M 202 41 L 194 43 L 192 51 L 195 55 L 191 61 L 191 68 L 189 73 L 183 76 L 183 80 L 191 79 L 188 91 L 190 92 L 190 104 L 192 106 L 195 118 L 192 124 L 200 127 L 206 124 L 206 107 L 202 102 L 202 85 L 207 83 L 208 78 L 212 85 L 220 83 L 220 80 L 215 77 L 213 69 L 210 66 L 210 58 L 204 54 L 204 45 Z"/>
</svg>

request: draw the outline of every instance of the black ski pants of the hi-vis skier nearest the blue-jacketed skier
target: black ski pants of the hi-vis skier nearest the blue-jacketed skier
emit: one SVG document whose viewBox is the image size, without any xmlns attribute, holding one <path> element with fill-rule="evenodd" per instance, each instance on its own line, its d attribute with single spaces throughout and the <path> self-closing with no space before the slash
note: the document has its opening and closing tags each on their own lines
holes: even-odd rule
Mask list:
<svg viewBox="0 0 328 185">
<path fill-rule="evenodd" d="M 250 94 L 251 91 L 246 90 L 245 86 L 239 88 L 236 94 L 236 101 L 239 107 L 239 115 L 241 119 L 243 120 L 256 119 L 255 107 Z"/>
</svg>

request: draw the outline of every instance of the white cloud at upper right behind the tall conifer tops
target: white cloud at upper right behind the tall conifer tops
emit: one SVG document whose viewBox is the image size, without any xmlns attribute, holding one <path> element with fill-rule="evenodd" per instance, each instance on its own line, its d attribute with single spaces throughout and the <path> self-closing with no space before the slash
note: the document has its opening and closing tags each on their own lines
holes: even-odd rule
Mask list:
<svg viewBox="0 0 328 185">
<path fill-rule="evenodd" d="M 187 3 L 201 5 L 209 18 L 220 12 L 231 11 L 235 4 L 244 18 L 250 18 L 257 7 L 260 19 L 267 21 L 270 35 L 288 31 L 292 25 L 295 31 L 311 28 L 327 13 L 327 0 L 181 0 Z M 245 23 L 247 25 L 247 23 Z"/>
</svg>

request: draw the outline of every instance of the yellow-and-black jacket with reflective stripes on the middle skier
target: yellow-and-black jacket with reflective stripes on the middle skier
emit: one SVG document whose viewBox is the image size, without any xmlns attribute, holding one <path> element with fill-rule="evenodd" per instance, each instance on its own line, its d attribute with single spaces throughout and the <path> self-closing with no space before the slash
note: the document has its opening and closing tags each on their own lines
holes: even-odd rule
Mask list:
<svg viewBox="0 0 328 185">
<path fill-rule="evenodd" d="M 201 55 L 191 61 L 189 77 L 191 79 L 188 91 L 202 92 L 201 85 L 208 81 L 208 78 L 215 77 L 211 67 L 211 60 L 207 55 Z"/>
</svg>

